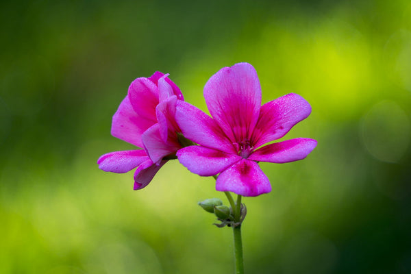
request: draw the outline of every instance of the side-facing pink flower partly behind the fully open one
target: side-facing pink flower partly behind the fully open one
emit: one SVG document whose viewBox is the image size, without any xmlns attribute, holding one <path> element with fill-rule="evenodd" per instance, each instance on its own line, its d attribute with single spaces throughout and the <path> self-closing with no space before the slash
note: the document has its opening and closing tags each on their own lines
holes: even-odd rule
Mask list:
<svg viewBox="0 0 411 274">
<path fill-rule="evenodd" d="M 167 162 L 164 157 L 181 148 L 176 132 L 175 105 L 184 100 L 182 92 L 168 75 L 156 72 L 137 78 L 113 116 L 112 136 L 142 147 L 102 155 L 99 169 L 114 173 L 134 173 L 134 190 L 144 188 Z"/>
</svg>

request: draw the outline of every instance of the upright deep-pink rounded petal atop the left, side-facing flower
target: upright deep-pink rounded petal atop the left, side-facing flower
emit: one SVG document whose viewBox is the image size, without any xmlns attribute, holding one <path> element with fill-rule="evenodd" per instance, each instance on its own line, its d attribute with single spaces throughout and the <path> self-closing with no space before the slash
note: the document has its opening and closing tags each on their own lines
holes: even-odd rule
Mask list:
<svg viewBox="0 0 411 274">
<path fill-rule="evenodd" d="M 153 123 L 157 122 L 155 107 L 158 105 L 158 86 L 151 79 L 145 77 L 135 79 L 129 86 L 127 96 L 138 116 Z"/>
</svg>

